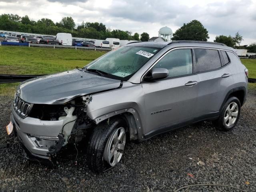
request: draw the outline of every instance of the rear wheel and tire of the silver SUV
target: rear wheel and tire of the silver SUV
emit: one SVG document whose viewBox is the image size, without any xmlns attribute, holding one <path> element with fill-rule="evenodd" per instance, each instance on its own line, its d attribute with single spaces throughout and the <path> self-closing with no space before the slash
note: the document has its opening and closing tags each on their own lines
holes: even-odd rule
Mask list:
<svg viewBox="0 0 256 192">
<path fill-rule="evenodd" d="M 213 122 L 214 126 L 221 131 L 232 130 L 239 120 L 240 110 L 239 99 L 236 97 L 228 98 L 220 110 L 220 117 Z"/>
</svg>

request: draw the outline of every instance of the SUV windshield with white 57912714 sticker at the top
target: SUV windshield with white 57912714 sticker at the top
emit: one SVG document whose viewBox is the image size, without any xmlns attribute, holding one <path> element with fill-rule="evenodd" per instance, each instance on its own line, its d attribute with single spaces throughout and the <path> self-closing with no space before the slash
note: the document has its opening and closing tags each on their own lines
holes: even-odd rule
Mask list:
<svg viewBox="0 0 256 192">
<path fill-rule="evenodd" d="M 87 66 L 87 70 L 99 70 L 119 80 L 128 80 L 160 48 L 122 46 L 109 52 Z"/>
</svg>

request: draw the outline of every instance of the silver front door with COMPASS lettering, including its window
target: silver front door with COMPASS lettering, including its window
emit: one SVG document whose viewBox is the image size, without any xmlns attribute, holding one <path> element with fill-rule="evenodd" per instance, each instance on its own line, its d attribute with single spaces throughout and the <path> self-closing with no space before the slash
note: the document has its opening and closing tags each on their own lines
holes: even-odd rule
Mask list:
<svg viewBox="0 0 256 192">
<path fill-rule="evenodd" d="M 142 83 L 145 93 L 147 134 L 170 130 L 194 118 L 198 96 L 198 75 L 193 74 L 192 50 L 175 49 L 163 56 L 153 68 L 166 68 L 169 76 L 163 80 Z"/>
</svg>

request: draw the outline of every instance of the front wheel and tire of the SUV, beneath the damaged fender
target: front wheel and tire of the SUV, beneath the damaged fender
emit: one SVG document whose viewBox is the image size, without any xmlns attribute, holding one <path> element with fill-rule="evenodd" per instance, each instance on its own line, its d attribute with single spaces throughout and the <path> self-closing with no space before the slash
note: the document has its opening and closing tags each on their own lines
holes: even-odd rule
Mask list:
<svg viewBox="0 0 256 192">
<path fill-rule="evenodd" d="M 109 122 L 104 121 L 94 128 L 87 146 L 87 164 L 92 171 L 104 172 L 118 164 L 126 143 L 126 127 L 126 122 L 123 119 L 113 118 Z M 121 134 L 123 134 L 123 139 Z M 120 140 L 118 140 L 119 137 Z M 122 146 L 122 150 L 119 144 Z M 110 151 L 114 151 L 112 153 L 113 159 L 108 156 Z"/>
</svg>

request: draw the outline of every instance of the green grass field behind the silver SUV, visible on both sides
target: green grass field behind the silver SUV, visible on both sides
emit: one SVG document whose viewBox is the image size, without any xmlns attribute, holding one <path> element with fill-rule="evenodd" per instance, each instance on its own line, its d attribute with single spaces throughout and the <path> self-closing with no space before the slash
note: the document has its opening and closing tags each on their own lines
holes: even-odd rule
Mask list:
<svg viewBox="0 0 256 192">
<path fill-rule="evenodd" d="M 0 47 L 0 74 L 52 74 L 81 68 L 106 52 L 41 47 Z M 241 59 L 249 70 L 249 77 L 256 78 L 256 59 Z M 0 84 L 0 96 L 14 95 L 19 83 Z M 249 89 L 256 84 L 249 83 Z"/>
</svg>

